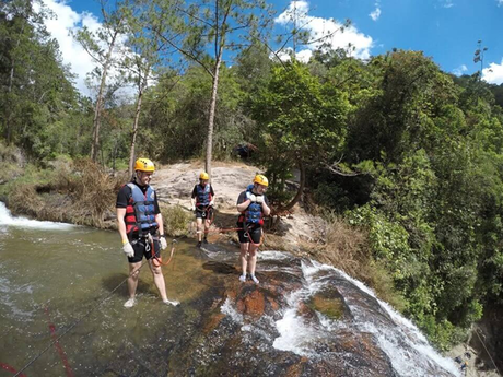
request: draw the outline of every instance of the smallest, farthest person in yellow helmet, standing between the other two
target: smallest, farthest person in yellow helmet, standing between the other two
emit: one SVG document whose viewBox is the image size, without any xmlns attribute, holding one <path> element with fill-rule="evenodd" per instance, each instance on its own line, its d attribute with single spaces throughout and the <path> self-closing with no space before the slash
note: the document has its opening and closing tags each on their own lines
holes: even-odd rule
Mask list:
<svg viewBox="0 0 503 377">
<path fill-rule="evenodd" d="M 199 175 L 199 185 L 194 186 L 190 202 L 191 210 L 196 211 L 197 225 L 197 247 L 201 247 L 201 243 L 208 244 L 207 235 L 213 216 L 214 192 L 213 187 L 209 184 L 210 176 L 202 172 Z M 204 220 L 204 236 L 202 236 L 202 221 Z"/>
</svg>

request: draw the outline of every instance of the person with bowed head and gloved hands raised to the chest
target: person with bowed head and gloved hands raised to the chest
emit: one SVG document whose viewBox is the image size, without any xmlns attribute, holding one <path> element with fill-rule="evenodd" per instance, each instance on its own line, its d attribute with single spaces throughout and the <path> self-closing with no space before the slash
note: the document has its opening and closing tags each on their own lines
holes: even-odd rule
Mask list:
<svg viewBox="0 0 503 377">
<path fill-rule="evenodd" d="M 264 217 L 271 213 L 269 201 L 265 196 L 268 186 L 267 178 L 258 174 L 254 178 L 254 184 L 249 185 L 246 191 L 239 193 L 237 198 L 237 211 L 241 212 L 237 227 L 242 228 L 237 231 L 242 267 L 239 281 L 243 283 L 246 282 L 247 268 L 255 284 L 259 283 L 255 276 L 255 268 L 257 266 L 257 251 L 262 236 Z"/>
</svg>

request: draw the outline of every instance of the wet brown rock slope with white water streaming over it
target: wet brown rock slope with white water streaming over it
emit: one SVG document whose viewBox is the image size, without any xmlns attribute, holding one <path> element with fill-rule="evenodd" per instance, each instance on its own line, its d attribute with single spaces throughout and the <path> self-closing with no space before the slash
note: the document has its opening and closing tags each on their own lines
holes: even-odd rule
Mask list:
<svg viewBox="0 0 503 377">
<path fill-rule="evenodd" d="M 168 376 L 455 375 L 421 355 L 413 342 L 428 344 L 335 269 L 264 252 L 256 285 L 238 281 L 235 255 L 215 245 L 204 252 L 221 288 L 198 325 L 203 331 L 169 355 Z"/>
</svg>

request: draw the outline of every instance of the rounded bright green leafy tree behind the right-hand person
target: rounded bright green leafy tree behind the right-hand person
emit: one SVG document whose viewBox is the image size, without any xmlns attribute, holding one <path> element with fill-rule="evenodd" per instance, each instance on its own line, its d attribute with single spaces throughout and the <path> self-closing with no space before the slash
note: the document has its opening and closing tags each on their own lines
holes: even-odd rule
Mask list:
<svg viewBox="0 0 503 377">
<path fill-rule="evenodd" d="M 301 172 L 297 193 L 284 209 L 301 199 L 306 165 L 316 166 L 340 152 L 348 110 L 344 95 L 320 84 L 302 63 L 273 68 L 271 81 L 255 105 L 255 118 L 262 132 L 262 158 L 273 173 L 272 189 L 284 191 L 284 174 L 293 166 Z"/>
</svg>

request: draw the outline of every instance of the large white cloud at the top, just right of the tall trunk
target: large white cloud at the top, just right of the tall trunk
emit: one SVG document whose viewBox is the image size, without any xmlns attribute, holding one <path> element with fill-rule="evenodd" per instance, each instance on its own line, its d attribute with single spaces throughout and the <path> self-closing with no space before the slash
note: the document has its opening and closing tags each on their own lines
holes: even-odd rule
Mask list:
<svg viewBox="0 0 503 377">
<path fill-rule="evenodd" d="M 359 59 L 367 59 L 371 56 L 372 37 L 360 33 L 353 25 L 346 27 L 344 32 L 341 33 L 340 28 L 343 24 L 334 19 L 311 16 L 307 14 L 308 11 L 307 1 L 292 1 L 289 8 L 274 20 L 282 26 L 289 26 L 293 25 L 295 19 L 296 26 L 309 33 L 312 43 L 303 46 L 304 49 L 296 52 L 297 57 L 306 58 L 308 54 L 312 54 L 324 43 L 328 43 L 334 49 L 350 49 L 351 55 Z"/>
</svg>

